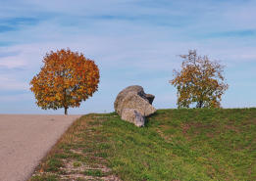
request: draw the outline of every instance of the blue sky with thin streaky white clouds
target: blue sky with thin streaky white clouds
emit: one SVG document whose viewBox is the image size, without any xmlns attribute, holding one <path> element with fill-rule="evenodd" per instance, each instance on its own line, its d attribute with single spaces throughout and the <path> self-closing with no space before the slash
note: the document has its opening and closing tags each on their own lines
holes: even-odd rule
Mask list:
<svg viewBox="0 0 256 181">
<path fill-rule="evenodd" d="M 29 81 L 47 52 L 70 48 L 95 61 L 98 91 L 71 114 L 114 111 L 141 85 L 156 109 L 177 108 L 169 83 L 179 55 L 221 61 L 223 108 L 256 107 L 255 0 L 0 0 L 0 113 L 64 113 L 35 104 Z"/>
</svg>

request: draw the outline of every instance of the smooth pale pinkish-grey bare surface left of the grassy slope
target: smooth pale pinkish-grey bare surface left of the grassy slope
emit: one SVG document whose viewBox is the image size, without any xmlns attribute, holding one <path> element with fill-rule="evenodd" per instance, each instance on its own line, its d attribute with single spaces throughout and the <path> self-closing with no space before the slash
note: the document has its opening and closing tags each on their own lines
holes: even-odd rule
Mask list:
<svg viewBox="0 0 256 181">
<path fill-rule="evenodd" d="M 0 114 L 0 180 L 24 181 L 80 115 Z"/>
</svg>

